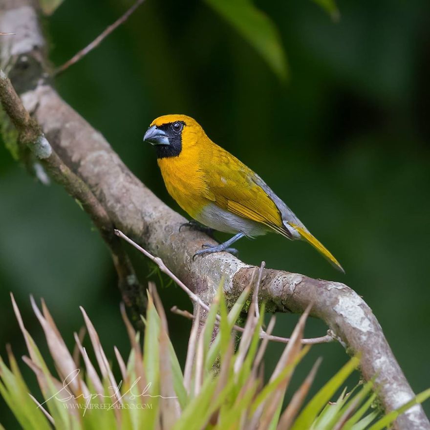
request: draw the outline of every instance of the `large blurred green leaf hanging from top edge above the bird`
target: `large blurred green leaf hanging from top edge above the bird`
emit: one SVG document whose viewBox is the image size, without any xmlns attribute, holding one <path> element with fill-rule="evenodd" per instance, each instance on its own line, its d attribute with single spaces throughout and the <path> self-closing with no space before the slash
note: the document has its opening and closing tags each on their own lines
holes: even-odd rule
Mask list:
<svg viewBox="0 0 430 430">
<path fill-rule="evenodd" d="M 267 15 L 251 0 L 206 0 L 206 3 L 256 49 L 280 80 L 286 79 L 288 66 L 280 35 Z"/>
</svg>

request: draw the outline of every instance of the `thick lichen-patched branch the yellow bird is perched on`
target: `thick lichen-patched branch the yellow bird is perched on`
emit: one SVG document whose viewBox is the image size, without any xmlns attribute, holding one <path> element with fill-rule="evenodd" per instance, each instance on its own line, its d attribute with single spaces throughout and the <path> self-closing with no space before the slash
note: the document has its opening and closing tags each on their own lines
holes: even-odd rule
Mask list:
<svg viewBox="0 0 430 430">
<path fill-rule="evenodd" d="M 21 7 L 17 8 L 17 3 Z M 5 9 L 8 9 L 7 14 Z M 23 88 L 21 99 L 24 106 L 34 114 L 54 151 L 82 178 L 115 227 L 162 258 L 203 301 L 209 303 L 212 300 L 221 279 L 224 279 L 227 298 L 234 300 L 249 283 L 254 266 L 226 253 L 207 255 L 193 261 L 195 250 L 212 239 L 200 232 L 179 232 L 184 218 L 161 202 L 127 169 L 99 132 L 43 79 L 29 87 L 27 78 L 14 73 L 15 64 L 20 64 L 22 56 L 34 60 L 31 64 L 36 64 L 35 70 L 43 70 L 43 61 L 39 61 L 39 46 L 43 38 L 37 22 L 27 22 L 36 20 L 34 11 L 31 11 L 29 0 L 0 0 L 1 30 L 19 34 L 20 29 L 15 28 L 11 21 L 11 17 L 15 17 L 26 22 L 25 37 L 29 39 L 27 42 L 32 42 L 15 46 L 15 36 L 8 37 L 8 41 L 1 39 L 0 58 L 10 66 L 10 76 L 16 77 L 19 88 Z M 24 49 L 25 46 L 29 47 Z M 14 54 L 11 56 L 10 52 Z M 378 375 L 379 396 L 387 411 L 398 408 L 414 396 L 371 309 L 346 285 L 265 269 L 259 298 L 266 300 L 268 309 L 273 312 L 302 313 L 312 302 L 311 315 L 327 323 L 348 353 L 362 352 L 361 366 L 366 380 Z M 409 409 L 398 418 L 396 425 L 398 429 L 405 430 L 430 429 L 421 406 Z"/>
</svg>

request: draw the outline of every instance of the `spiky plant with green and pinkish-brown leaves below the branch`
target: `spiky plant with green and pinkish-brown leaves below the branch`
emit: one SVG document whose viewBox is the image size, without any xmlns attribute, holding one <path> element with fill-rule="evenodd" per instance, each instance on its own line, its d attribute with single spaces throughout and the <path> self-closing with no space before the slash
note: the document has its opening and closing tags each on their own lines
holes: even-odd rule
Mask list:
<svg viewBox="0 0 430 430">
<path fill-rule="evenodd" d="M 21 427 L 29 430 L 52 427 L 377 430 L 386 428 L 400 413 L 430 396 L 430 390 L 427 390 L 401 409 L 382 416 L 377 409 L 371 409 L 376 394 L 372 392 L 372 382 L 368 382 L 348 394 L 344 390 L 335 403 L 329 403 L 358 366 L 359 358 L 354 357 L 304 404 L 320 364 L 318 360 L 282 409 L 293 372 L 309 350 L 309 346 L 301 344 L 307 312 L 294 329 L 269 380 L 264 382 L 260 366 L 268 340 L 259 339 L 264 306 L 255 312 L 255 301 L 252 301 L 238 343 L 236 334 L 232 333 L 249 294 L 250 287 L 227 312 L 220 289 L 204 321 L 200 321 L 201 313 L 197 308 L 182 372 L 169 338 L 163 306 L 150 284 L 143 350 L 139 334 L 134 331 L 122 308 L 131 351 L 126 364 L 118 349 L 114 348 L 121 370 L 120 383 L 112 373 L 97 332 L 84 309 L 81 311 L 94 349 L 95 363 L 91 362 L 82 339 L 75 334 L 77 351 L 84 362 L 80 367 L 79 355 L 72 356 L 67 350 L 45 303 L 42 301 L 41 311 L 31 299 L 55 363 L 58 375 L 54 376 L 25 329 L 12 296 L 29 352 L 29 357 L 23 357 L 23 360 L 36 374 L 43 400 L 29 393 L 10 350 L 10 367 L 0 359 L 1 396 Z M 270 325 L 268 331 L 273 328 L 273 323 Z"/>
</svg>

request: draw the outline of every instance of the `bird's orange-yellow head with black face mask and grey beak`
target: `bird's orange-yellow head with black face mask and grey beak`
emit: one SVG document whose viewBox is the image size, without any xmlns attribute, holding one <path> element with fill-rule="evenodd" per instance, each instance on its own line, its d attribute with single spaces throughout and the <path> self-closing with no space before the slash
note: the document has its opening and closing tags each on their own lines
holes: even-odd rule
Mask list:
<svg viewBox="0 0 430 430">
<path fill-rule="evenodd" d="M 143 141 L 153 145 L 158 158 L 177 157 L 206 136 L 203 129 L 187 115 L 163 115 L 152 121 Z"/>
</svg>

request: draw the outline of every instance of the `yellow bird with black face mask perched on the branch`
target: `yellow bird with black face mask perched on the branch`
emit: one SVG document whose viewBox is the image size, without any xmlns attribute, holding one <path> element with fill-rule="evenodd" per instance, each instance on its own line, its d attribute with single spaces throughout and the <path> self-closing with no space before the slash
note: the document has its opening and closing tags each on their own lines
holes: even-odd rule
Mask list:
<svg viewBox="0 0 430 430">
<path fill-rule="evenodd" d="M 221 251 L 236 253 L 231 245 L 241 237 L 275 231 L 291 240 L 309 242 L 344 272 L 338 260 L 258 174 L 212 142 L 193 118 L 160 116 L 143 140 L 155 147 L 167 191 L 179 206 L 199 223 L 235 234 L 219 245 L 203 245 L 194 257 Z"/>
</svg>

